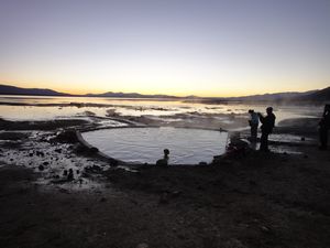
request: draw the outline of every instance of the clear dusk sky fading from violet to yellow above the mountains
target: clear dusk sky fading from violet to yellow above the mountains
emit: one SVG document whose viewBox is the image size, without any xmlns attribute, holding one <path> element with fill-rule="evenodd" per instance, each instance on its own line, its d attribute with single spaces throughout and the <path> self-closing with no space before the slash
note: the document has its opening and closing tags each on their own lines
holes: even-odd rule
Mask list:
<svg viewBox="0 0 330 248">
<path fill-rule="evenodd" d="M 0 0 L 0 84 L 243 96 L 330 86 L 330 0 Z"/>
</svg>

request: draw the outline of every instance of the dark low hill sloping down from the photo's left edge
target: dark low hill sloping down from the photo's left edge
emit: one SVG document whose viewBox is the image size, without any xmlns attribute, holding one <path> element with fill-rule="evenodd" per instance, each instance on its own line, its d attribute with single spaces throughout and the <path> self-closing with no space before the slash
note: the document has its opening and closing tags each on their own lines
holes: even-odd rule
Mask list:
<svg viewBox="0 0 330 248">
<path fill-rule="evenodd" d="M 57 93 L 52 89 L 43 88 L 20 88 L 10 85 L 0 85 L 2 95 L 31 95 L 31 96 L 70 96 L 69 94 Z"/>
</svg>

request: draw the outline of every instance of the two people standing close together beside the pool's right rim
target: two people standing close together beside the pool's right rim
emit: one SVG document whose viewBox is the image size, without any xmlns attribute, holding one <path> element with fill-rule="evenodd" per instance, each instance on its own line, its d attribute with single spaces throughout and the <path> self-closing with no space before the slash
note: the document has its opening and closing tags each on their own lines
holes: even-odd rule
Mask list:
<svg viewBox="0 0 330 248">
<path fill-rule="evenodd" d="M 260 150 L 261 151 L 270 151 L 268 149 L 268 136 L 273 132 L 273 128 L 275 126 L 275 115 L 273 114 L 273 108 L 266 108 L 266 116 L 263 116 L 261 112 L 255 112 L 253 109 L 249 110 L 250 119 L 249 125 L 251 127 L 251 141 L 256 142 L 257 140 L 257 127 L 258 122 L 262 123 L 261 130 L 262 136 L 260 139 Z"/>
</svg>

